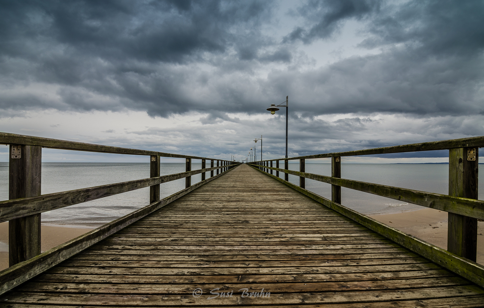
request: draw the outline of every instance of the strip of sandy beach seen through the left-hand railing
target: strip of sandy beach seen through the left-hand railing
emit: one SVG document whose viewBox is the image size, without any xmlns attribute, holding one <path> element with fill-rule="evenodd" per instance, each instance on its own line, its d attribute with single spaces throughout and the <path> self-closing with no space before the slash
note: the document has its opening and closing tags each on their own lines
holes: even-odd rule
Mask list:
<svg viewBox="0 0 484 308">
<path fill-rule="evenodd" d="M 50 248 L 61 245 L 79 235 L 86 233 L 94 227 L 82 226 L 52 226 L 41 227 L 41 249 L 44 252 Z M 0 270 L 8 267 L 8 222 L 0 223 Z"/>
</svg>

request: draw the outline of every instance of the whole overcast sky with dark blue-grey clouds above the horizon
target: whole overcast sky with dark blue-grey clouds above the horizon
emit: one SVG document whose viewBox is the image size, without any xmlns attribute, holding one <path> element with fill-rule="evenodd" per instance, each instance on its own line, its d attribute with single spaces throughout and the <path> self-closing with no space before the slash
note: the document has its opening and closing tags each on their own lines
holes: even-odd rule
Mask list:
<svg viewBox="0 0 484 308">
<path fill-rule="evenodd" d="M 275 159 L 288 96 L 289 157 L 482 136 L 483 60 L 482 0 L 2 0 L 0 131 Z"/>
</svg>

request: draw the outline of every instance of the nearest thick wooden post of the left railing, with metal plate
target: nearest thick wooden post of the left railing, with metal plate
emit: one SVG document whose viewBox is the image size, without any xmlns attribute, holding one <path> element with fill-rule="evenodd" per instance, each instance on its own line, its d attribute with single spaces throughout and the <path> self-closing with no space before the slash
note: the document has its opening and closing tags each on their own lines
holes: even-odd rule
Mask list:
<svg viewBox="0 0 484 308">
<path fill-rule="evenodd" d="M 9 154 L 8 199 L 40 196 L 42 148 L 10 145 Z M 8 236 L 9 266 L 39 255 L 40 213 L 10 220 Z"/>
</svg>

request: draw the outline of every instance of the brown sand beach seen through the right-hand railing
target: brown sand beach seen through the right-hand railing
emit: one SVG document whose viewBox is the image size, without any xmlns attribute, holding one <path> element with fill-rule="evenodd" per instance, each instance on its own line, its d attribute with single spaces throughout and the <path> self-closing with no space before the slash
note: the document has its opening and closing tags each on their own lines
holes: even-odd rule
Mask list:
<svg viewBox="0 0 484 308">
<path fill-rule="evenodd" d="M 369 215 L 395 229 L 447 249 L 447 212 L 435 209 Z M 477 223 L 477 262 L 484 264 L 484 222 Z"/>
</svg>

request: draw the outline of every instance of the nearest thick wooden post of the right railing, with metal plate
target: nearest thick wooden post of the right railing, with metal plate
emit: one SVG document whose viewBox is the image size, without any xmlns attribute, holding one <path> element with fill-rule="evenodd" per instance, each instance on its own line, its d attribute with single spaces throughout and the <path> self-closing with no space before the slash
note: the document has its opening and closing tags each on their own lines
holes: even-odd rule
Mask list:
<svg viewBox="0 0 484 308">
<path fill-rule="evenodd" d="M 449 149 L 449 195 L 477 199 L 478 148 Z M 447 250 L 471 261 L 477 254 L 477 218 L 449 213 Z"/>
</svg>

